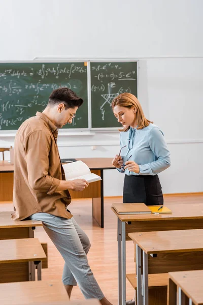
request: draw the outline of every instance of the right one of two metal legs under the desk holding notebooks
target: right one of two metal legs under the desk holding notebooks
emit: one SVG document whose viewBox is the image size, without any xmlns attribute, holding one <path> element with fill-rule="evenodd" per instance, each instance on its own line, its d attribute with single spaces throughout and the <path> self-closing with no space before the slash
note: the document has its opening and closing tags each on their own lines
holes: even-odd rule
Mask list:
<svg viewBox="0 0 203 305">
<path fill-rule="evenodd" d="M 121 252 L 122 252 L 122 305 L 125 305 L 126 303 L 125 222 L 121 223 Z"/>
</svg>

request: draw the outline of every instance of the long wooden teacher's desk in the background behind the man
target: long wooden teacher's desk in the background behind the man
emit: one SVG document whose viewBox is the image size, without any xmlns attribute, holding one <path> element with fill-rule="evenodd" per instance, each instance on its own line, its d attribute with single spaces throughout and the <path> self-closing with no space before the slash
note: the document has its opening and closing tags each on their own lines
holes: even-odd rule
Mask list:
<svg viewBox="0 0 203 305">
<path fill-rule="evenodd" d="M 115 169 L 112 158 L 76 159 L 86 163 L 91 172 L 101 177 L 100 181 L 89 184 L 83 192 L 70 191 L 72 198 L 92 198 L 92 216 L 101 228 L 104 228 L 104 170 Z M 5 191 L 6 190 L 6 191 Z M 0 161 L 0 201 L 13 199 L 13 165 Z"/>
</svg>

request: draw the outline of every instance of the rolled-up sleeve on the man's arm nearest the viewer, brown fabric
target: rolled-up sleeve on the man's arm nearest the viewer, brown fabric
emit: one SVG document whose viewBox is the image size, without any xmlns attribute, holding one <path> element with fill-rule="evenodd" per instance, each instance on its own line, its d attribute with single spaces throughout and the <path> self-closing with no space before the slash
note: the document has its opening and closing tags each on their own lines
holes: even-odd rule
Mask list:
<svg viewBox="0 0 203 305">
<path fill-rule="evenodd" d="M 51 139 L 43 130 L 32 132 L 25 140 L 28 183 L 33 190 L 53 194 L 60 180 L 49 175 Z"/>
</svg>

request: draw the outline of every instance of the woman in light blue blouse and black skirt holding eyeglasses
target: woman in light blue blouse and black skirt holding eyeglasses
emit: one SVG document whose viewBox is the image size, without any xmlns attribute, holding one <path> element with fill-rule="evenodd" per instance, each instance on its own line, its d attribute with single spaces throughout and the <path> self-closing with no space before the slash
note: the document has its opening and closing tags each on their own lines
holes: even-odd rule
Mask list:
<svg viewBox="0 0 203 305">
<path fill-rule="evenodd" d="M 138 99 L 122 93 L 112 102 L 114 115 L 123 125 L 119 155 L 112 164 L 125 173 L 123 203 L 163 204 L 158 173 L 170 167 L 170 151 L 162 131 L 149 121 Z"/>
</svg>

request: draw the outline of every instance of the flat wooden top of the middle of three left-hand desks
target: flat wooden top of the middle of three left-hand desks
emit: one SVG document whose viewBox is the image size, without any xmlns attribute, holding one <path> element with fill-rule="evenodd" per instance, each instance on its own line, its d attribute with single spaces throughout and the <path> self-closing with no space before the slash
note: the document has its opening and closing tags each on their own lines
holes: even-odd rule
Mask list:
<svg viewBox="0 0 203 305">
<path fill-rule="evenodd" d="M 0 240 L 0 264 L 45 260 L 46 254 L 38 238 Z"/>
</svg>

